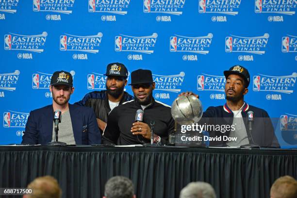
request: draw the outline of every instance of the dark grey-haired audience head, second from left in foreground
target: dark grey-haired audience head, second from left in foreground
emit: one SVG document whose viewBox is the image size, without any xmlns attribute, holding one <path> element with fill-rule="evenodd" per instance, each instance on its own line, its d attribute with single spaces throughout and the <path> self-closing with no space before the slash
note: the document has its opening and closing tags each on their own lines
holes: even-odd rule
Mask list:
<svg viewBox="0 0 297 198">
<path fill-rule="evenodd" d="M 105 184 L 103 198 L 136 198 L 132 181 L 123 176 L 110 178 Z"/>
</svg>

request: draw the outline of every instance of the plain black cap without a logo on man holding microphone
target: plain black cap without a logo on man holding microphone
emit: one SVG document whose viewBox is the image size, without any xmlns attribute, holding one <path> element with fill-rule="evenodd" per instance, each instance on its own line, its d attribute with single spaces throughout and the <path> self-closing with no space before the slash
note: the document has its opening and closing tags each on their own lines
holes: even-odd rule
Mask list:
<svg viewBox="0 0 297 198">
<path fill-rule="evenodd" d="M 148 69 L 137 69 L 132 71 L 131 73 L 131 84 L 145 84 L 145 83 L 153 83 L 152 73 Z"/>
</svg>

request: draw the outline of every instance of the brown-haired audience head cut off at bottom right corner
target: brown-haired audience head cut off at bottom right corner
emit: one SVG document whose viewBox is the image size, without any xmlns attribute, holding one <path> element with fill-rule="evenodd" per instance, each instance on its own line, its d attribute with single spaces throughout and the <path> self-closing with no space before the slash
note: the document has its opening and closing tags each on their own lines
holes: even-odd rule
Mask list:
<svg viewBox="0 0 297 198">
<path fill-rule="evenodd" d="M 274 181 L 270 189 L 271 198 L 297 198 L 297 181 L 291 176 L 283 176 Z"/>
</svg>

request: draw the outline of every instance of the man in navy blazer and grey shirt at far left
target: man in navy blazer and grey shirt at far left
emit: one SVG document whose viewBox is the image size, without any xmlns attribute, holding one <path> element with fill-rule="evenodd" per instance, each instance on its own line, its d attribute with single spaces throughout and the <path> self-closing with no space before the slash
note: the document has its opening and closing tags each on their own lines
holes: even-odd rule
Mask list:
<svg viewBox="0 0 297 198">
<path fill-rule="evenodd" d="M 62 114 L 59 121 L 58 141 L 69 145 L 101 143 L 95 114 L 91 108 L 69 104 L 74 92 L 73 78 L 67 71 L 56 71 L 50 79 L 52 104 L 30 112 L 23 135 L 23 144 L 42 144 L 57 141 L 54 115 Z"/>
</svg>

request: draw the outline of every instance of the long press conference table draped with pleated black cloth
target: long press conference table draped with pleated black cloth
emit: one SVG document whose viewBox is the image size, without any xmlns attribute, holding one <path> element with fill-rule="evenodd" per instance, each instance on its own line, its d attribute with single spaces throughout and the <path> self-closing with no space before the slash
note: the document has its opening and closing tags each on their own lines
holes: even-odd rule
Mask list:
<svg viewBox="0 0 297 198">
<path fill-rule="evenodd" d="M 269 198 L 277 178 L 297 178 L 297 150 L 0 147 L 0 187 L 26 187 L 44 175 L 59 181 L 63 198 L 100 198 L 115 175 L 132 179 L 137 198 L 178 198 L 191 181 L 211 183 L 217 198 Z"/>
</svg>

